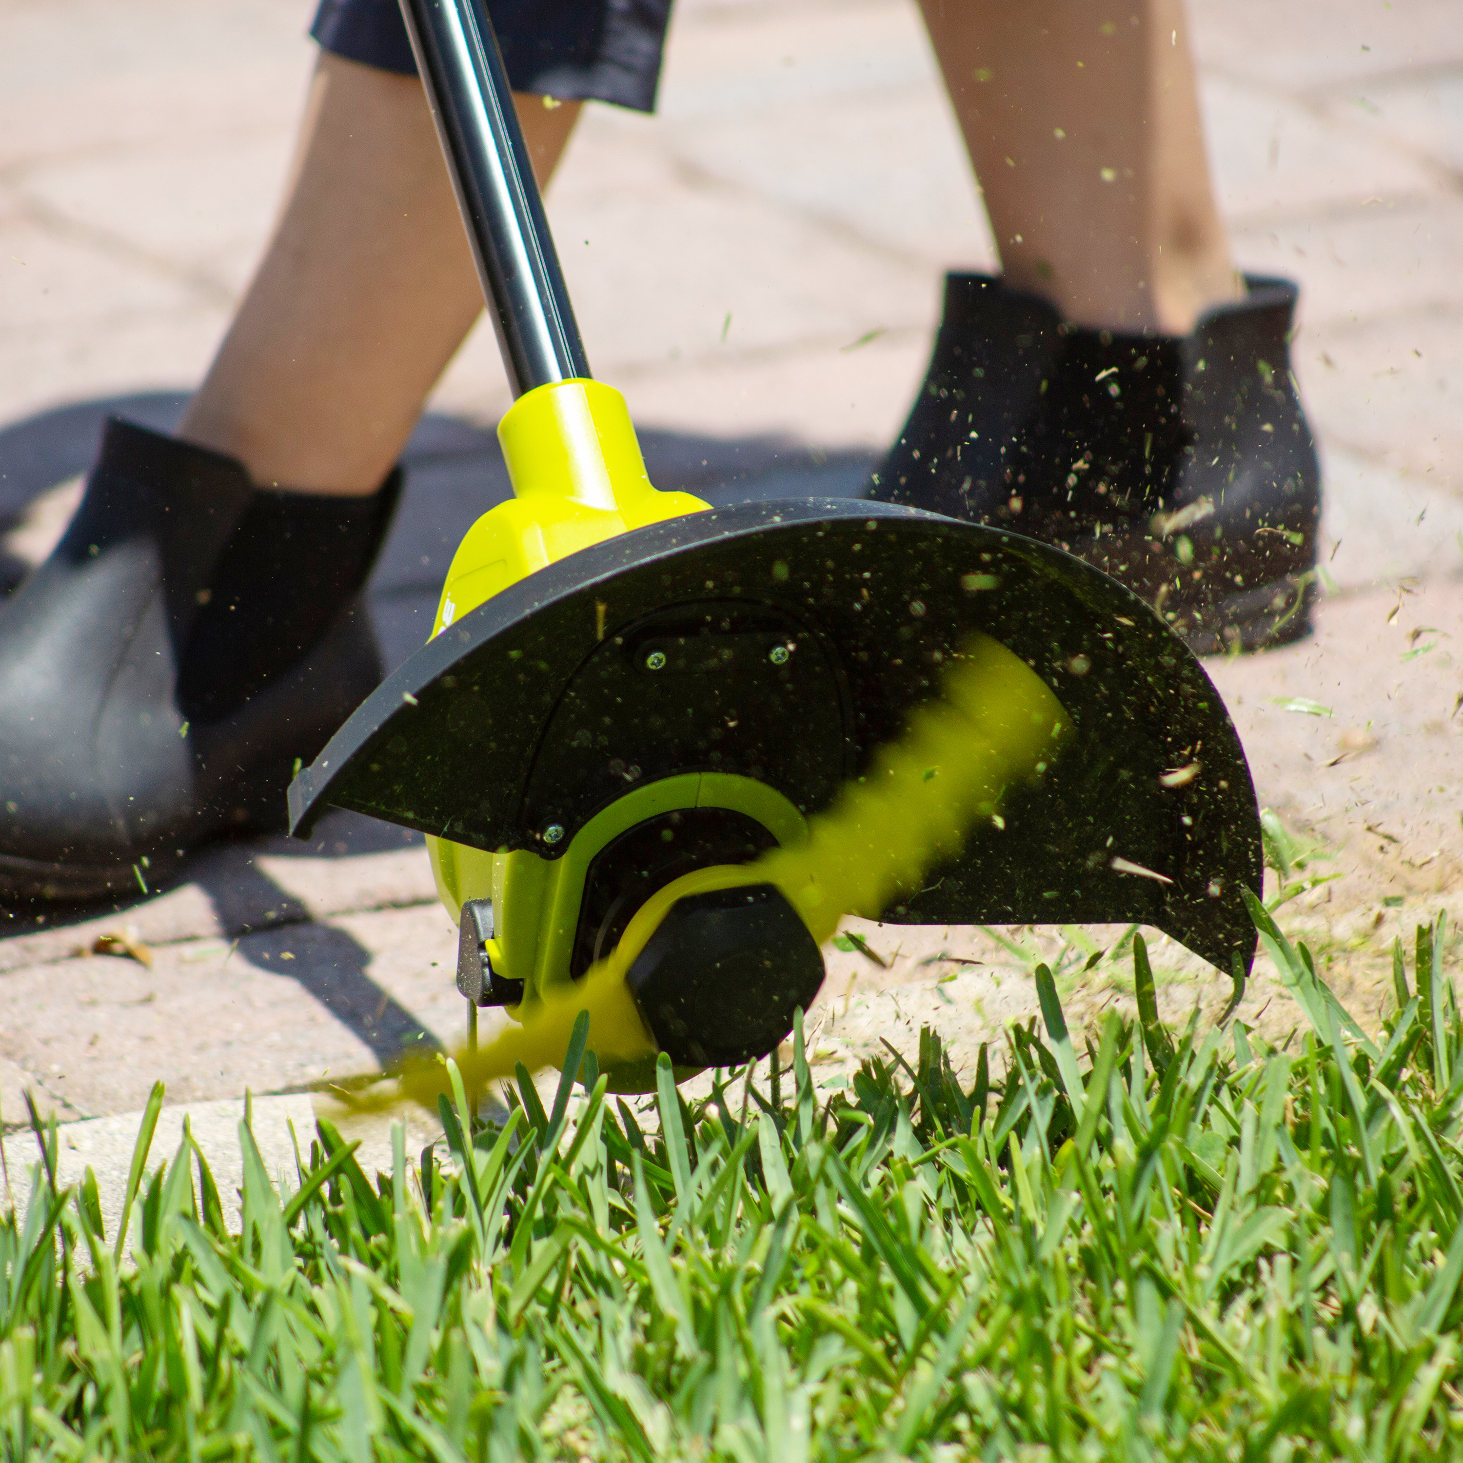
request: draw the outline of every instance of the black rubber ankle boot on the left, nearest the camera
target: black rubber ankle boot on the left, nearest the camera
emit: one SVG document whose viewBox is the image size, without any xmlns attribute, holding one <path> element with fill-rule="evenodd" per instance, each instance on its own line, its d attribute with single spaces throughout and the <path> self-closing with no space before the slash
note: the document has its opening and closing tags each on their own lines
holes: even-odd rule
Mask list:
<svg viewBox="0 0 1463 1463">
<path fill-rule="evenodd" d="M 256 490 L 113 420 L 56 552 L 0 606 L 0 897 L 136 891 L 219 832 L 282 828 L 380 679 L 367 499 Z"/>
</svg>

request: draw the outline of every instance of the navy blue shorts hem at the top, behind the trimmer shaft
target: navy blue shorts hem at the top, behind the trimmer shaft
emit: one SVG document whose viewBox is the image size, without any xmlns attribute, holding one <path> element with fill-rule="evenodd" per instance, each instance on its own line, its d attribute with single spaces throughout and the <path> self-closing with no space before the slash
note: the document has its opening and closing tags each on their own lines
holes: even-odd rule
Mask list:
<svg viewBox="0 0 1463 1463">
<path fill-rule="evenodd" d="M 514 91 L 654 111 L 670 0 L 486 0 Z M 396 0 L 320 0 L 326 51 L 415 76 Z"/>
</svg>

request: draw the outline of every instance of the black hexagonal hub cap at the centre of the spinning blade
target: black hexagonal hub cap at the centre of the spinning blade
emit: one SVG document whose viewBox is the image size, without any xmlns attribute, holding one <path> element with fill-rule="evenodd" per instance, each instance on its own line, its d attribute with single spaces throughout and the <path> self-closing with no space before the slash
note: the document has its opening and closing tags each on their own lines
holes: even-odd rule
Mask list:
<svg viewBox="0 0 1463 1463">
<path fill-rule="evenodd" d="M 765 1056 L 818 995 L 822 951 L 771 884 L 677 900 L 626 982 L 677 1067 Z"/>
</svg>

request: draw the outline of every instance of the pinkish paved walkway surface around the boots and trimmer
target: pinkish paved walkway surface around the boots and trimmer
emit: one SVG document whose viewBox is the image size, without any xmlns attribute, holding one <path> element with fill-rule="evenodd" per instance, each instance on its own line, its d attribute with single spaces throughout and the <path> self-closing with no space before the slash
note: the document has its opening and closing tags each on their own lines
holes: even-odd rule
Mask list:
<svg viewBox="0 0 1463 1463">
<path fill-rule="evenodd" d="M 13 0 L 0 15 L 4 584 L 60 531 L 108 404 L 167 427 L 205 369 L 274 212 L 309 13 Z M 1463 32 L 1454 0 L 1195 0 L 1191 15 L 1236 259 L 1302 284 L 1295 370 L 1327 470 L 1317 635 L 1210 670 L 1261 802 L 1337 875 L 1287 906 L 1289 928 L 1374 1020 L 1387 942 L 1457 911 L 1463 865 Z M 854 492 L 923 373 L 941 272 L 995 266 L 903 0 L 683 0 L 661 114 L 590 108 L 550 215 L 591 361 L 629 396 L 652 478 L 721 502 Z M 506 404 L 480 328 L 413 440 L 372 584 L 391 663 L 424 638 L 461 533 L 508 492 L 492 437 Z M 1330 714 L 1285 710 L 1296 698 Z M 424 850 L 364 819 L 332 816 L 312 846 L 221 846 L 119 907 L 0 913 L 0 1122 L 29 1087 L 42 1110 L 92 1119 L 67 1151 L 114 1178 L 136 1127 L 121 1115 L 157 1077 L 228 1147 L 246 1090 L 288 1094 L 461 1030 Z M 121 930 L 151 967 L 80 954 Z M 890 969 L 831 948 L 811 1017 L 827 1090 L 884 1036 L 911 1052 L 926 1020 L 969 1056 L 1036 1012 L 1030 958 L 1077 939 L 1021 933 L 1028 958 L 976 930 L 866 932 Z M 1162 941 L 1154 955 L 1167 1015 L 1217 1014 L 1227 980 Z M 1099 964 L 1071 1011 L 1125 999 L 1127 979 Z M 1280 1034 L 1293 1020 L 1264 969 L 1241 1012 Z M 303 1131 L 309 1112 L 260 1096 L 256 1131 L 262 1113 L 277 1138 L 285 1118 Z"/>
</svg>

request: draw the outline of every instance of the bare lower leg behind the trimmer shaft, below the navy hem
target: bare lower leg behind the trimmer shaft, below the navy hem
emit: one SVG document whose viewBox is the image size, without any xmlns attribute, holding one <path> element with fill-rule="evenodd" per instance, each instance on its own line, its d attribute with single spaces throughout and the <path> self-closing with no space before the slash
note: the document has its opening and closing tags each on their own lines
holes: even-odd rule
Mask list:
<svg viewBox="0 0 1463 1463">
<path fill-rule="evenodd" d="M 515 101 L 547 181 L 579 104 Z M 178 435 L 260 484 L 370 493 L 481 309 L 421 83 L 325 53 L 279 222 Z"/>
</svg>

